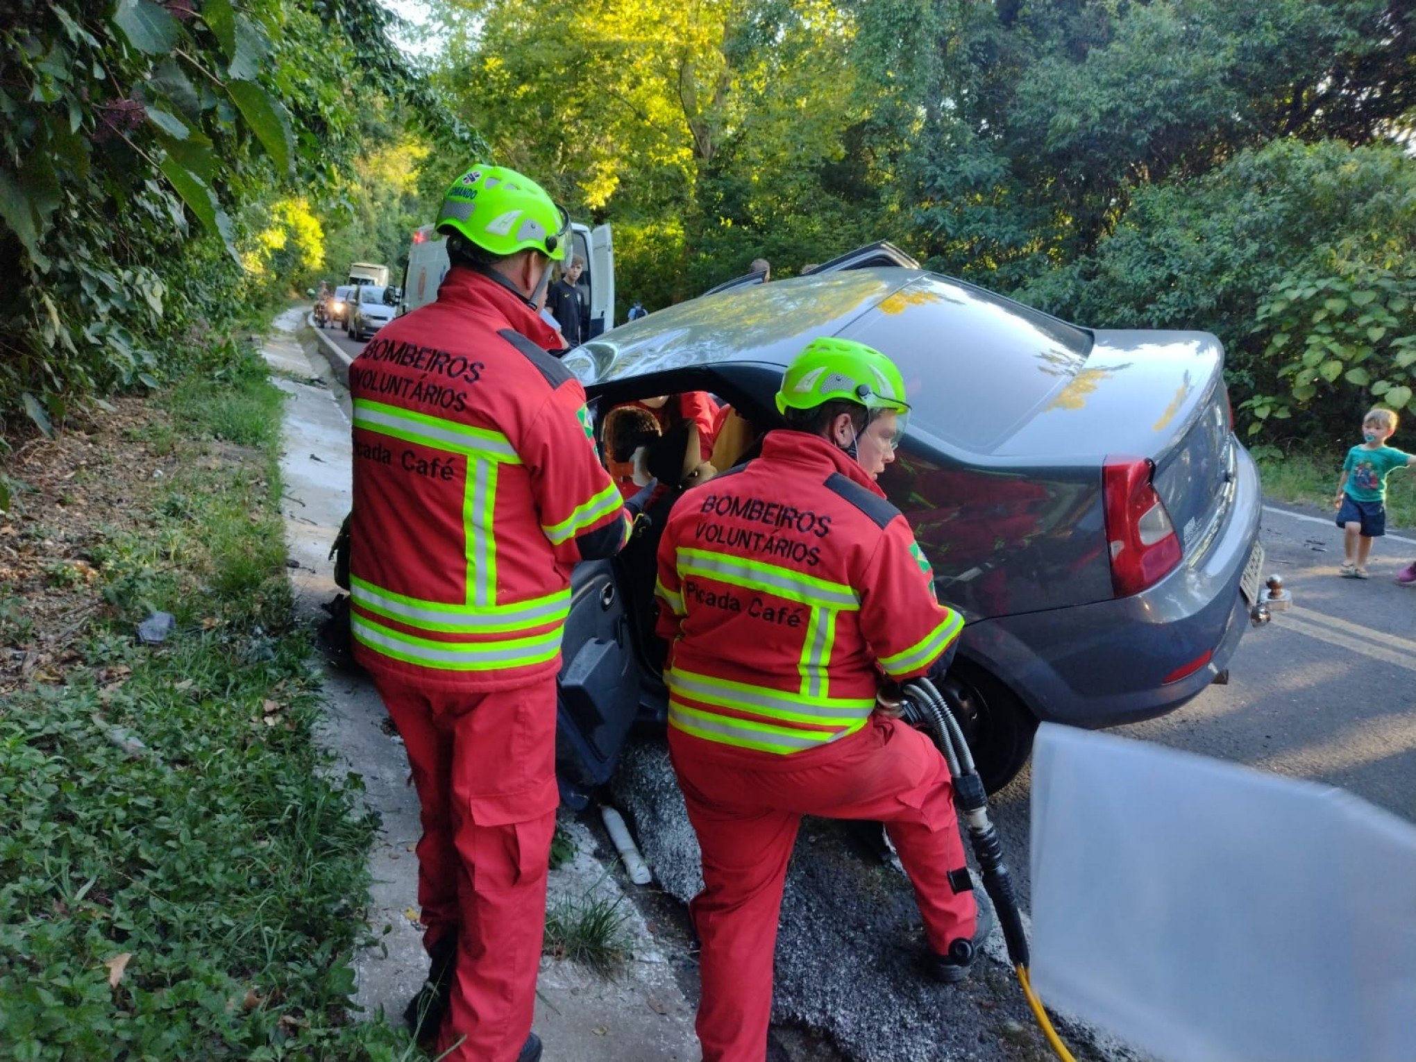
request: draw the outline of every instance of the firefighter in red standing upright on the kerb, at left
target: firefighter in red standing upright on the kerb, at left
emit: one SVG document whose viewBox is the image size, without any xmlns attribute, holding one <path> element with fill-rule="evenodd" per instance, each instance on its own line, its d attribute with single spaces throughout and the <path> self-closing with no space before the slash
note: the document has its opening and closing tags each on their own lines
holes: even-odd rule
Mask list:
<svg viewBox="0 0 1416 1062">
<path fill-rule="evenodd" d="M 534 307 L 569 219 L 521 174 L 447 190 L 438 300 L 350 367 L 351 627 L 422 803 L 432 973 L 409 1004 L 460 1062 L 528 1062 L 558 803 L 555 677 L 571 568 L 630 528 L 585 391 Z"/>
</svg>

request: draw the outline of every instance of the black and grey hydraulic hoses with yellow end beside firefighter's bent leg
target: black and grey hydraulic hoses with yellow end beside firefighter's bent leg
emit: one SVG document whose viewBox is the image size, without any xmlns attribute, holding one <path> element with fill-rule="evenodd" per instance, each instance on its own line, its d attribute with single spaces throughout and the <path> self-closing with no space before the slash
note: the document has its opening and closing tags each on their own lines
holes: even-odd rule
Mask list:
<svg viewBox="0 0 1416 1062">
<path fill-rule="evenodd" d="M 1052 1028 L 1048 1012 L 1042 1010 L 1042 1003 L 1034 994 L 1028 980 L 1028 936 L 1022 929 L 1022 915 L 1018 912 L 1018 899 L 1012 892 L 1012 879 L 1003 862 L 1003 844 L 998 840 L 998 831 L 994 830 L 993 821 L 988 818 L 988 794 L 984 792 L 983 779 L 974 769 L 973 753 L 964 741 L 964 732 L 950 709 L 946 695 L 927 678 L 913 678 L 905 683 L 902 692 L 905 695 L 903 719 L 929 733 L 949 763 L 949 775 L 954 783 L 954 804 L 969 823 L 969 843 L 978 860 L 978 869 L 983 871 L 983 886 L 998 912 L 998 925 L 1003 927 L 1003 939 L 1008 946 L 1008 959 L 1018 974 L 1018 984 L 1022 986 L 1028 1007 L 1032 1008 L 1032 1017 L 1037 1018 L 1042 1035 L 1046 1037 L 1058 1058 L 1063 1062 L 1075 1062 L 1072 1052 L 1066 1049 L 1056 1029 Z"/>
</svg>

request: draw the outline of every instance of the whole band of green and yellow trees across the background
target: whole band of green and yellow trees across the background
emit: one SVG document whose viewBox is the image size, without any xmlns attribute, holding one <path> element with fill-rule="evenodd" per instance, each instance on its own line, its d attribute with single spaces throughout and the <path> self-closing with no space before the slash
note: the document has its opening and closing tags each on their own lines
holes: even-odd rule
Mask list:
<svg viewBox="0 0 1416 1062">
<path fill-rule="evenodd" d="M 0 242 L 25 280 L 0 415 L 47 422 L 149 381 L 232 300 L 348 258 L 396 265 L 476 159 L 610 222 L 626 304 L 888 238 L 1080 324 L 1215 331 L 1242 416 L 1273 438 L 1410 402 L 1409 0 L 433 17 L 415 62 L 374 0 L 18 0 Z M 1374 285 L 1379 306 L 1351 297 Z"/>
</svg>

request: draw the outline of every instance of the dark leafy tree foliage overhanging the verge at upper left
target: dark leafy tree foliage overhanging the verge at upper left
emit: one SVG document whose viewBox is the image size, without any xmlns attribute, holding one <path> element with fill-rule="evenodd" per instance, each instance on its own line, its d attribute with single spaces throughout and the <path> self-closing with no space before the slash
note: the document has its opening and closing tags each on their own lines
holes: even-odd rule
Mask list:
<svg viewBox="0 0 1416 1062">
<path fill-rule="evenodd" d="M 17 0 L 0 13 L 0 425 L 153 385 L 239 307 L 265 204 L 321 187 L 408 72 L 375 0 Z M 337 27 L 337 28 L 336 28 Z M 459 127 L 426 88 L 423 125 Z M 263 278 L 255 278 L 253 295 Z"/>
</svg>

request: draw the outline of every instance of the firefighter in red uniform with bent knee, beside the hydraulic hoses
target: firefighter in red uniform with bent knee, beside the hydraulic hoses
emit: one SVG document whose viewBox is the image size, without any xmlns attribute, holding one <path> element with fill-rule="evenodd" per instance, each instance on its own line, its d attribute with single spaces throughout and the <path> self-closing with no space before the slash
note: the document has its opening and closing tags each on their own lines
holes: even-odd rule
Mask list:
<svg viewBox="0 0 1416 1062">
<path fill-rule="evenodd" d="M 886 824 L 944 981 L 966 976 L 978 918 L 949 769 L 877 711 L 882 680 L 939 675 L 963 619 L 875 477 L 909 406 L 899 370 L 818 338 L 777 392 L 787 430 L 675 504 L 658 549 L 671 641 L 668 748 L 702 850 L 704 1062 L 766 1055 L 772 959 L 803 814 Z"/>
</svg>

